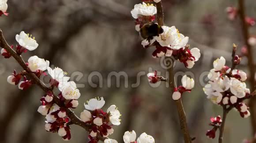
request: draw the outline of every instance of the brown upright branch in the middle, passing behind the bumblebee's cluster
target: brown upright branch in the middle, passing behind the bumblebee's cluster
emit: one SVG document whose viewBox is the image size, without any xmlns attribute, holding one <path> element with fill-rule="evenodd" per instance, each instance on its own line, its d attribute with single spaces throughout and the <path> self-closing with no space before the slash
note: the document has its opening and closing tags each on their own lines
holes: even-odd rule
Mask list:
<svg viewBox="0 0 256 143">
<path fill-rule="evenodd" d="M 163 26 L 164 25 L 164 13 L 163 13 L 163 9 L 162 9 L 162 1 L 156 3 L 156 8 L 157 8 L 158 25 Z M 167 58 L 169 58 L 169 57 L 166 57 L 166 59 Z M 172 63 L 174 63 L 174 61 Z M 168 69 L 168 72 L 169 72 L 169 88 L 170 88 L 171 93 L 172 93 L 173 88 L 174 88 L 173 66 L 171 66 Z M 182 101 L 181 101 L 181 99 L 179 99 L 179 100 L 175 101 L 175 103 L 176 103 L 178 114 L 179 114 L 181 130 L 182 130 L 183 135 L 184 135 L 184 141 L 185 141 L 185 143 L 192 143 L 192 139 L 191 139 L 191 137 L 189 135 L 189 131 L 188 131 L 187 119 L 186 119 L 186 114 L 185 114 L 185 111 L 184 111 L 184 108 L 183 108 Z"/>
</svg>

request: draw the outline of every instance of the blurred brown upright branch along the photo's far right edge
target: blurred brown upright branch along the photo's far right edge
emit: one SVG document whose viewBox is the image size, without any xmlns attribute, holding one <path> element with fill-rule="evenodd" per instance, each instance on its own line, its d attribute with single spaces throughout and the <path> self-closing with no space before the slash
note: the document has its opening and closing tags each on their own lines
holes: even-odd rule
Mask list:
<svg viewBox="0 0 256 143">
<path fill-rule="evenodd" d="M 238 0 L 238 2 L 239 2 L 239 17 L 241 21 L 243 37 L 245 40 L 245 45 L 247 46 L 247 49 L 248 49 L 248 54 L 246 56 L 248 58 L 248 68 L 249 68 L 249 74 L 250 74 L 249 82 L 251 86 L 251 91 L 254 91 L 256 89 L 254 86 L 255 85 L 255 79 L 254 79 L 255 68 L 253 63 L 252 46 L 248 43 L 249 31 L 248 31 L 248 25 L 245 21 L 245 10 L 246 10 L 245 1 Z M 249 101 L 249 107 L 251 109 L 251 123 L 252 123 L 253 136 L 256 133 L 256 104 L 255 103 L 256 103 L 256 97 L 252 97 L 252 99 Z"/>
</svg>

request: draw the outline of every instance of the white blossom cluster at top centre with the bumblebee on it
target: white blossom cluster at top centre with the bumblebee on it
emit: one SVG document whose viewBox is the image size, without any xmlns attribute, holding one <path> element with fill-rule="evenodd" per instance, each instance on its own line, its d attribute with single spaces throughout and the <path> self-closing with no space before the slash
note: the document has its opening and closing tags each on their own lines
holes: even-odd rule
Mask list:
<svg viewBox="0 0 256 143">
<path fill-rule="evenodd" d="M 157 3 L 157 2 L 156 2 Z M 200 50 L 189 50 L 188 36 L 184 36 L 175 26 L 160 26 L 154 22 L 157 8 L 154 4 L 136 4 L 131 11 L 136 19 L 136 31 L 143 38 L 144 48 L 155 47 L 152 56 L 154 58 L 173 55 L 176 60 L 184 63 L 185 67 L 192 68 L 194 62 L 200 58 Z M 187 47 L 187 48 L 186 48 Z"/>
</svg>

